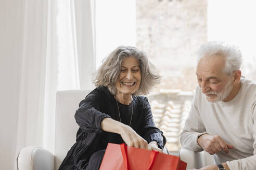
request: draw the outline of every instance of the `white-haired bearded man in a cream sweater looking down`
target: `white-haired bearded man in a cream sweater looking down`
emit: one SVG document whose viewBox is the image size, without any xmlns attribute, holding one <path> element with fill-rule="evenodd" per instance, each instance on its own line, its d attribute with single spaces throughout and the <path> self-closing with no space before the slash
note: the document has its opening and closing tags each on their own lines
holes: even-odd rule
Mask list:
<svg viewBox="0 0 256 170">
<path fill-rule="evenodd" d="M 198 51 L 196 88 L 181 144 L 214 154 L 200 169 L 256 169 L 256 83 L 241 76 L 241 52 L 208 42 Z"/>
</svg>

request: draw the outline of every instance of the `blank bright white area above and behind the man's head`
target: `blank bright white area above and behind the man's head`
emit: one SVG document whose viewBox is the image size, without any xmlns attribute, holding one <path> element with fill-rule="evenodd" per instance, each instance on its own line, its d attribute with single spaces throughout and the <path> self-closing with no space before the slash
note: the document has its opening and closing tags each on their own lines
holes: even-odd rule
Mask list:
<svg viewBox="0 0 256 170">
<path fill-rule="evenodd" d="M 244 73 L 250 72 L 248 64 L 256 66 L 255 7 L 254 0 L 208 0 L 208 40 L 238 46 L 243 55 Z"/>
</svg>

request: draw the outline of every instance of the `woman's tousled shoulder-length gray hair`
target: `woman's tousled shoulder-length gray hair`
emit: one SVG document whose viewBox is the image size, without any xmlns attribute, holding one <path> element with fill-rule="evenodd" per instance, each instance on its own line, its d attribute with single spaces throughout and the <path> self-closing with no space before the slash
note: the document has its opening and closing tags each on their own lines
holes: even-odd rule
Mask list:
<svg viewBox="0 0 256 170">
<path fill-rule="evenodd" d="M 146 95 L 152 87 L 160 83 L 161 76 L 155 65 L 148 61 L 147 54 L 135 47 L 119 46 L 104 59 L 103 64 L 96 70 L 93 83 L 96 87 L 105 86 L 112 95 L 116 95 L 116 82 L 121 73 L 121 63 L 124 58 L 132 56 L 139 61 L 142 80 L 133 95 Z"/>
</svg>

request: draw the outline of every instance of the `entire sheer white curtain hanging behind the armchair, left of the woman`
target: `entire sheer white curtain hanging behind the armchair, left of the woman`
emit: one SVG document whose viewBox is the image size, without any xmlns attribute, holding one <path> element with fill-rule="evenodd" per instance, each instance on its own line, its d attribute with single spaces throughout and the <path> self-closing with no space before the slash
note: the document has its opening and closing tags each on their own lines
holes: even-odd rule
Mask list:
<svg viewBox="0 0 256 170">
<path fill-rule="evenodd" d="M 94 1 L 24 0 L 16 155 L 54 153 L 57 90 L 92 89 Z"/>
</svg>

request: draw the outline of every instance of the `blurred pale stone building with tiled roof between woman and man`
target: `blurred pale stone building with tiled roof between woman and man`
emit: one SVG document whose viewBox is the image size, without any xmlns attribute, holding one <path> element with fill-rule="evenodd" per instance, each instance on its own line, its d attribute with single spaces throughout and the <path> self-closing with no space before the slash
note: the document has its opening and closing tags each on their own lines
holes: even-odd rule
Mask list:
<svg viewBox="0 0 256 170">
<path fill-rule="evenodd" d="M 162 76 L 148 95 L 153 119 L 168 150 L 178 151 L 197 86 L 196 51 L 207 41 L 207 0 L 136 1 L 136 35 L 136 47 Z"/>
</svg>

